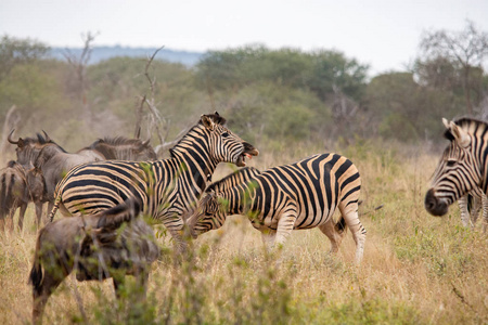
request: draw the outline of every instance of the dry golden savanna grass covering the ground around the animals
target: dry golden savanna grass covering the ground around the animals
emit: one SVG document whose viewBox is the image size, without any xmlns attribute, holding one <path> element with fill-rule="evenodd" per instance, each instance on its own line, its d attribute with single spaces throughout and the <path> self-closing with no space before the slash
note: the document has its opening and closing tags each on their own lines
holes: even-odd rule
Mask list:
<svg viewBox="0 0 488 325">
<path fill-rule="evenodd" d="M 252 165 L 265 169 L 321 151 L 264 151 Z M 103 324 L 488 323 L 488 236 L 480 222 L 464 229 L 457 206 L 445 218 L 423 207 L 438 154 L 374 142 L 334 151 L 362 176 L 360 219 L 368 235 L 360 266 L 350 232 L 337 256 L 328 255 L 330 243 L 317 229 L 294 232 L 269 255 L 259 232 L 236 216 L 195 240 L 193 256 L 175 268 L 169 236 L 158 227 L 163 257 L 153 264 L 145 302 L 131 301 L 130 282 L 128 302 L 117 304 L 111 281 L 77 283 L 72 275 L 51 297 L 46 324 L 84 317 Z M 227 172 L 222 166 L 214 179 Z M 0 234 L 1 324 L 30 320 L 35 239 L 30 208 L 23 232 Z"/>
</svg>

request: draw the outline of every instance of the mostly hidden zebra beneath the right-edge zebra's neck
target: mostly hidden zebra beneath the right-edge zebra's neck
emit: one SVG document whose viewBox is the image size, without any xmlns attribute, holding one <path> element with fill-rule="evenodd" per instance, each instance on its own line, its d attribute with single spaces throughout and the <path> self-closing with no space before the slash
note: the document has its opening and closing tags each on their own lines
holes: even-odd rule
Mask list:
<svg viewBox="0 0 488 325">
<path fill-rule="evenodd" d="M 488 218 L 488 199 L 479 187 L 473 188 L 468 194 L 458 200 L 463 226 L 472 226 L 478 220 L 479 211 L 483 219 Z"/>
</svg>

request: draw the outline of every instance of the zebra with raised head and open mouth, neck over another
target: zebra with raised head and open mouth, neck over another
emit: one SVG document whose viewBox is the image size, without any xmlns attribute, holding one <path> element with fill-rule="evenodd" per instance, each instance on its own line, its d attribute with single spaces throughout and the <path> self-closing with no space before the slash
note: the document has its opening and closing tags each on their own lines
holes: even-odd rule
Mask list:
<svg viewBox="0 0 488 325">
<path fill-rule="evenodd" d="M 136 195 L 143 212 L 162 222 L 184 252 L 183 216 L 194 206 L 219 162 L 246 165 L 259 152 L 224 127 L 216 112 L 198 122 L 170 150 L 170 158 L 156 161 L 106 160 L 73 168 L 57 184 L 52 220 L 64 214 L 97 213 Z"/>
</svg>

